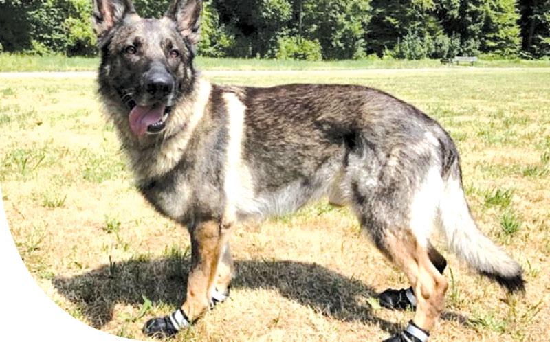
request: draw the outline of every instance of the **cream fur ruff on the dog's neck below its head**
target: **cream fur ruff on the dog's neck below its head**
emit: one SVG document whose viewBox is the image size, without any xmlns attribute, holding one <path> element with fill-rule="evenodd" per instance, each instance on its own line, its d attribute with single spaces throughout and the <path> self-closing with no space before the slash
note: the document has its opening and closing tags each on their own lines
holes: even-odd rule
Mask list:
<svg viewBox="0 0 550 342">
<path fill-rule="evenodd" d="M 119 130 L 138 183 L 162 176 L 177 166 L 204 116 L 211 92 L 210 82 L 197 77 L 194 90 L 175 104 L 166 130 L 159 135 L 136 139 L 129 130 Z"/>
</svg>

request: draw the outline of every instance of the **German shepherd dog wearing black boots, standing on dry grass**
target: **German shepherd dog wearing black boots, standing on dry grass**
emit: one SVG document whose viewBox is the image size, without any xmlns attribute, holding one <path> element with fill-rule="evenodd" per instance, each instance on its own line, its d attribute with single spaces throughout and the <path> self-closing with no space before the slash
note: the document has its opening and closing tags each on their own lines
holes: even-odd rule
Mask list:
<svg viewBox="0 0 550 342">
<path fill-rule="evenodd" d="M 94 0 L 99 92 L 143 196 L 187 227 L 191 266 L 181 308 L 144 333 L 172 336 L 229 295 L 229 237 L 239 220 L 295 211 L 328 195 L 349 205 L 411 288 L 385 306 L 415 316 L 386 341 L 427 341 L 448 282 L 430 244 L 450 249 L 509 292 L 522 269 L 476 227 L 447 132 L 415 107 L 356 85 L 223 87 L 193 67 L 202 4 L 174 0 L 142 19 L 131 0 Z"/>
</svg>

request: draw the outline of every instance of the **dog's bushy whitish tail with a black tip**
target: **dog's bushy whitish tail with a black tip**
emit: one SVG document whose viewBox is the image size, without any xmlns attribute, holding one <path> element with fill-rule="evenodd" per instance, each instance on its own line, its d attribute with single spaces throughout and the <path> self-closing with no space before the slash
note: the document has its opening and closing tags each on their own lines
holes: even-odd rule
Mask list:
<svg viewBox="0 0 550 342">
<path fill-rule="evenodd" d="M 439 204 L 441 228 L 454 251 L 473 269 L 504 286 L 508 292 L 525 290 L 521 266 L 481 232 L 464 195 L 459 158 L 454 154 L 445 175 Z"/>
</svg>

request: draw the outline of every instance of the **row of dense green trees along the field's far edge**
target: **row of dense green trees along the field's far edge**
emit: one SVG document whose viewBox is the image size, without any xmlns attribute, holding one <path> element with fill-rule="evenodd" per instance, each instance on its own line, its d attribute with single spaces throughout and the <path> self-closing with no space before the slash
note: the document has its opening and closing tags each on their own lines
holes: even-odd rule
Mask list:
<svg viewBox="0 0 550 342">
<path fill-rule="evenodd" d="M 169 0 L 134 0 L 162 16 Z M 91 0 L 0 0 L 0 52 L 97 54 Z M 210 0 L 199 54 L 305 60 L 550 57 L 550 0 Z"/>
</svg>

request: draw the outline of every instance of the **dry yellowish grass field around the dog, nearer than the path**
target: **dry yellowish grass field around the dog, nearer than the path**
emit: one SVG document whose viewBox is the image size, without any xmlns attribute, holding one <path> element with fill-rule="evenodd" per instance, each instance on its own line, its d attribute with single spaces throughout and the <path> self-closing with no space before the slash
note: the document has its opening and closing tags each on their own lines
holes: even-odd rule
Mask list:
<svg viewBox="0 0 550 342">
<path fill-rule="evenodd" d="M 525 268 L 527 293 L 507 297 L 445 251 L 447 309 L 430 341 L 547 340 L 549 80 L 550 69 L 212 78 L 365 84 L 415 104 L 450 131 L 472 212 Z M 91 326 L 144 339 L 144 321 L 183 299 L 188 234 L 137 194 L 95 89 L 91 79 L 0 79 L 3 201 L 21 257 L 52 300 Z M 412 318 L 373 298 L 408 285 L 348 209 L 320 202 L 245 223 L 232 247 L 232 296 L 174 341 L 380 341 Z"/>
</svg>

